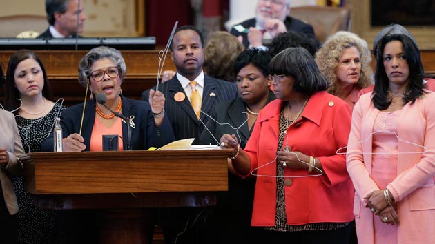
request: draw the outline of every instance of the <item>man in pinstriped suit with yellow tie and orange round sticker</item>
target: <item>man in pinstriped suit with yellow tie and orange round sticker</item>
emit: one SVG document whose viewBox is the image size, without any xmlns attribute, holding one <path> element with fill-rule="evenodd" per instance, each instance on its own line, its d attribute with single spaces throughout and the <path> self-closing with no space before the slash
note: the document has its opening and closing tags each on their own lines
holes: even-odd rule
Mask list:
<svg viewBox="0 0 435 244">
<path fill-rule="evenodd" d="M 235 83 L 214 79 L 202 71 L 204 49 L 202 34 L 193 26 L 182 26 L 175 30 L 171 44 L 171 59 L 177 74 L 159 85 L 166 101 L 164 109 L 171 121 L 175 140 L 195 138 L 198 143 L 204 124 L 209 121 L 211 108 L 216 103 L 235 99 L 238 96 Z M 200 119 L 191 105 L 191 86 L 197 82 L 197 90 L 202 93 Z M 155 90 L 155 87 L 153 88 Z M 148 101 L 149 90 L 142 93 L 142 100 Z M 205 113 L 205 114 L 204 114 Z M 204 124 L 203 124 L 204 123 Z"/>
</svg>

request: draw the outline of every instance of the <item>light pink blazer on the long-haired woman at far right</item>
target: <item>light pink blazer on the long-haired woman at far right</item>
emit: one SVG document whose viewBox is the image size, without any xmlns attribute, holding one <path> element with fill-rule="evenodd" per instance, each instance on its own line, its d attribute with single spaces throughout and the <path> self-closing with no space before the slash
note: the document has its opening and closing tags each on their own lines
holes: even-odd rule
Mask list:
<svg viewBox="0 0 435 244">
<path fill-rule="evenodd" d="M 435 93 L 429 92 L 415 103 L 407 103 L 400 114 L 398 138 L 403 141 L 398 141 L 398 152 L 419 153 L 398 154 L 397 177 L 387 185 L 398 201 L 398 244 L 434 243 L 435 240 L 434 105 Z M 378 190 L 378 186 L 371 179 L 371 154 L 361 152 L 371 152 L 371 133 L 378 113 L 371 103 L 371 93 L 360 97 L 353 111 L 347 148 L 347 171 L 356 190 L 354 215 L 360 244 L 374 243 L 374 215 L 363 198 Z M 424 145 L 427 152 L 405 141 Z"/>
</svg>

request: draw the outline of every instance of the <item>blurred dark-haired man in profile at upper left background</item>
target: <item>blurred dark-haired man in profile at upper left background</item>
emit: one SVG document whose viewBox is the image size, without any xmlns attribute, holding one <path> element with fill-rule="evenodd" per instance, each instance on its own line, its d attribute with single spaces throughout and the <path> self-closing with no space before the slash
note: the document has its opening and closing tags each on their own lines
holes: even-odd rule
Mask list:
<svg viewBox="0 0 435 244">
<path fill-rule="evenodd" d="M 82 0 L 46 0 L 46 12 L 50 26 L 37 38 L 75 37 L 83 32 L 86 15 Z"/>
</svg>

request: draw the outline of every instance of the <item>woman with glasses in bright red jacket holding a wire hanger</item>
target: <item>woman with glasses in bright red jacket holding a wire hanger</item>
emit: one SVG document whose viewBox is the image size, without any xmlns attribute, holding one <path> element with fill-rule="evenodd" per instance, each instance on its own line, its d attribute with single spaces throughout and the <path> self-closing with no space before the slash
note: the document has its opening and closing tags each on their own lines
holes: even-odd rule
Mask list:
<svg viewBox="0 0 435 244">
<path fill-rule="evenodd" d="M 237 136 L 224 134 L 233 148 L 235 171 L 256 176 L 251 225 L 258 243 L 349 243 L 354 220 L 354 187 L 345 154 L 351 110 L 325 92 L 328 81 L 303 48 L 273 57 L 269 72 L 276 100 L 258 114 L 242 150 Z"/>
</svg>

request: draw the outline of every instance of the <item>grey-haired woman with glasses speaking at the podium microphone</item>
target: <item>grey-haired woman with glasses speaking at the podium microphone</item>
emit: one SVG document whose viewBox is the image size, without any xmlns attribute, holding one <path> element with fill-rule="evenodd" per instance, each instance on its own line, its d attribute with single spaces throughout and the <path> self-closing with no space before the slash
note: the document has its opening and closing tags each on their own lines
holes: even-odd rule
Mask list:
<svg viewBox="0 0 435 244">
<path fill-rule="evenodd" d="M 127 126 L 130 126 L 133 150 L 160 147 L 174 140 L 163 110 L 164 95 L 151 91 L 149 103 L 127 99 L 121 89 L 124 77 L 126 63 L 118 50 L 101 46 L 91 49 L 81 59 L 79 83 L 91 92 L 90 101 L 72 106 L 62 114 L 64 151 L 102 151 L 102 137 L 106 134 L 119 135 L 115 148 L 127 150 Z M 101 99 L 106 100 L 105 105 L 95 101 Z M 128 117 L 129 122 L 112 111 Z M 52 137 L 44 145 L 44 149 L 52 150 Z"/>
</svg>

